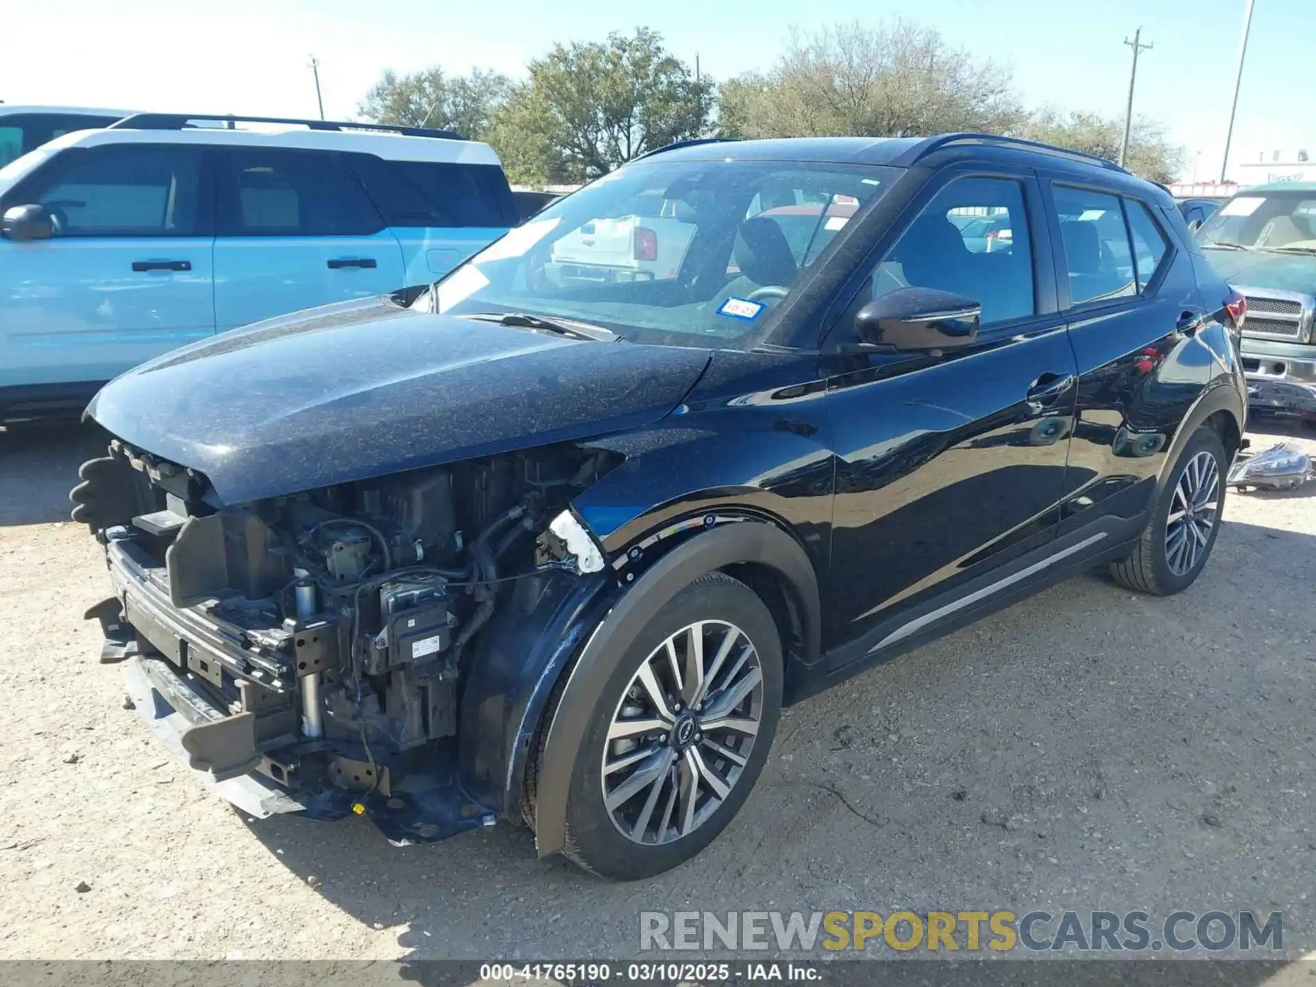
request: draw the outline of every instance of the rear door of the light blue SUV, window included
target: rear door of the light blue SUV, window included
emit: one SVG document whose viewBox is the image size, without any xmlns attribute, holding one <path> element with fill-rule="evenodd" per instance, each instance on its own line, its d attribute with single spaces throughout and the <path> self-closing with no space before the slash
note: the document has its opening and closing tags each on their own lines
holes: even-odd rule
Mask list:
<svg viewBox="0 0 1316 987">
<path fill-rule="evenodd" d="M 401 247 L 340 154 L 225 147 L 216 161 L 220 332 L 405 286 Z"/>
</svg>

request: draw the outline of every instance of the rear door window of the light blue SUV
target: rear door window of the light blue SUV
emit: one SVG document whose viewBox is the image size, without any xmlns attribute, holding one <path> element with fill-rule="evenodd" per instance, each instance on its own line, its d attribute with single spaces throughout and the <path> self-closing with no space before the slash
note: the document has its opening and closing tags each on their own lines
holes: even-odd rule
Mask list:
<svg viewBox="0 0 1316 987">
<path fill-rule="evenodd" d="M 243 149 L 221 162 L 220 236 L 362 236 L 383 228 L 336 154 Z"/>
</svg>

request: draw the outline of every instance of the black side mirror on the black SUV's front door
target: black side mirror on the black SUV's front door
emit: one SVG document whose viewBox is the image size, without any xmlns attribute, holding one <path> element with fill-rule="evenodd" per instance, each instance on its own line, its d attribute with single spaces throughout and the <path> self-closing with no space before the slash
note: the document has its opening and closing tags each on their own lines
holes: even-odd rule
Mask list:
<svg viewBox="0 0 1316 987">
<path fill-rule="evenodd" d="M 899 353 L 950 350 L 978 338 L 982 305 L 936 288 L 898 288 L 854 316 L 859 340 Z"/>
</svg>

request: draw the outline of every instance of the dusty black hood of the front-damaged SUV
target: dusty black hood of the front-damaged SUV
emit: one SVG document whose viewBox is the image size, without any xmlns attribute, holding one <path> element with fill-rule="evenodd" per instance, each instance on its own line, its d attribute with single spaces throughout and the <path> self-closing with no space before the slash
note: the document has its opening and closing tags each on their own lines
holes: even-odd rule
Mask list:
<svg viewBox="0 0 1316 987">
<path fill-rule="evenodd" d="M 646 425 L 708 358 L 371 299 L 167 353 L 108 383 L 87 413 L 238 504 Z"/>
</svg>

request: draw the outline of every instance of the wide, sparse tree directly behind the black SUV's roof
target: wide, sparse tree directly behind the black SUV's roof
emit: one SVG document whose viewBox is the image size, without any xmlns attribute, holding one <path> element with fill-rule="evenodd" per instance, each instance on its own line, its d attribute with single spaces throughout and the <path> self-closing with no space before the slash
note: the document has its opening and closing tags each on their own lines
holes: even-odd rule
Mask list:
<svg viewBox="0 0 1316 987">
<path fill-rule="evenodd" d="M 791 28 L 775 66 L 721 87 L 717 126 L 725 137 L 904 137 L 1004 133 L 1024 116 L 1008 67 L 909 21 L 855 21 Z"/>
</svg>

